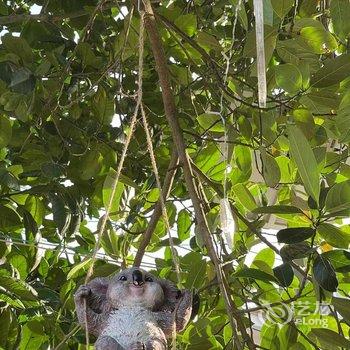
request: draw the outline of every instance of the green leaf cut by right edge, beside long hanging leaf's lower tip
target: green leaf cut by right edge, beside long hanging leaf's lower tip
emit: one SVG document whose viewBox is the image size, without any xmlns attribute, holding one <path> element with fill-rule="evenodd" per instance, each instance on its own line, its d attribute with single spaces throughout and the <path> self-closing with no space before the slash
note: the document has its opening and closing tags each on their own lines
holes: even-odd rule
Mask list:
<svg viewBox="0 0 350 350">
<path fill-rule="evenodd" d="M 350 208 L 350 181 L 336 183 L 327 193 L 325 208 L 337 212 Z"/>
</svg>

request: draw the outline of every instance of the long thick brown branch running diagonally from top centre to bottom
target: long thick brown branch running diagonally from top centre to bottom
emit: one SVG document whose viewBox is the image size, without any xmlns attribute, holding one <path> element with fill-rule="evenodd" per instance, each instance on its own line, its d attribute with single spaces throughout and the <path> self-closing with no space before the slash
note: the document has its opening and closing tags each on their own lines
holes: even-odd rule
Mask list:
<svg viewBox="0 0 350 350">
<path fill-rule="evenodd" d="M 238 309 L 229 294 L 228 284 L 225 280 L 224 272 L 221 269 L 221 263 L 215 251 L 214 244 L 213 244 L 211 234 L 208 228 L 208 224 L 206 221 L 206 217 L 204 214 L 203 206 L 199 199 L 198 189 L 194 181 L 190 160 L 186 152 L 186 146 L 185 146 L 182 130 L 180 128 L 180 125 L 176 116 L 177 113 L 176 113 L 176 107 L 175 107 L 175 100 L 174 100 L 172 88 L 170 86 L 170 76 L 167 68 L 167 60 L 163 51 L 161 38 L 159 37 L 159 33 L 156 26 L 155 17 L 154 17 L 150 0 L 145 0 L 144 5 L 145 5 L 145 12 L 146 12 L 145 26 L 146 26 L 147 33 L 149 35 L 153 56 L 156 62 L 156 70 L 158 72 L 159 83 L 162 91 L 165 116 L 168 120 L 170 129 L 172 132 L 172 137 L 175 142 L 177 152 L 179 155 L 180 163 L 183 167 L 185 182 L 193 203 L 197 225 L 198 225 L 199 231 L 203 236 L 203 240 L 207 247 L 209 256 L 215 267 L 221 294 L 223 296 L 225 306 L 227 309 L 227 314 L 231 323 L 232 332 L 235 336 L 235 341 L 236 341 L 235 345 L 239 350 L 242 350 L 244 347 L 244 344 L 242 345 L 238 338 L 238 333 L 236 330 L 236 327 L 238 326 L 238 329 L 243 336 L 243 341 L 247 344 L 249 349 L 255 350 L 256 347 L 251 337 L 247 333 L 246 326 L 243 320 L 241 319 L 240 315 L 238 314 Z"/>
</svg>

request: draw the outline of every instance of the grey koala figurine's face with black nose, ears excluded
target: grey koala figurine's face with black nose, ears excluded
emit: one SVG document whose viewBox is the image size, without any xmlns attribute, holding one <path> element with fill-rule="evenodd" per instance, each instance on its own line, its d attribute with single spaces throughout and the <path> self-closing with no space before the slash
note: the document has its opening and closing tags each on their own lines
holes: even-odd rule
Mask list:
<svg viewBox="0 0 350 350">
<path fill-rule="evenodd" d="M 163 303 L 164 292 L 156 277 L 133 267 L 111 279 L 107 299 L 115 308 L 141 306 L 153 310 Z"/>
</svg>

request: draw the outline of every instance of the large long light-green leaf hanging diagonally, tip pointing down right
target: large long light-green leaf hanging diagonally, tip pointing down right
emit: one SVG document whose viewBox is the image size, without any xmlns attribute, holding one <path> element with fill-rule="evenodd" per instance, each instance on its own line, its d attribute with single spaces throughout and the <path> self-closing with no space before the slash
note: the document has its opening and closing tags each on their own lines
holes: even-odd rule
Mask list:
<svg viewBox="0 0 350 350">
<path fill-rule="evenodd" d="M 320 181 L 316 158 L 310 144 L 301 130 L 293 125 L 287 126 L 290 152 L 298 167 L 300 177 L 307 193 L 319 202 Z"/>
</svg>

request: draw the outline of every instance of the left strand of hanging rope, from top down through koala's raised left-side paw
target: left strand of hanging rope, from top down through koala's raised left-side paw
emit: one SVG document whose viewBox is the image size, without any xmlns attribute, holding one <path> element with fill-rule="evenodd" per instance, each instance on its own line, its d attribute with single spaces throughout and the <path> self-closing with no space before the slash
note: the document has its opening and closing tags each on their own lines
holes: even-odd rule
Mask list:
<svg viewBox="0 0 350 350">
<path fill-rule="evenodd" d="M 112 204 L 113 204 L 113 198 L 114 198 L 114 195 L 115 195 L 115 192 L 117 189 L 119 177 L 120 177 L 121 171 L 123 169 L 124 161 L 126 158 L 126 153 L 127 153 L 127 150 L 128 150 L 128 147 L 129 147 L 129 144 L 131 141 L 131 137 L 132 137 L 134 129 L 135 129 L 137 115 L 138 115 L 138 112 L 140 110 L 140 106 L 141 106 L 141 102 L 142 102 L 143 50 L 144 50 L 144 14 L 142 13 L 141 20 L 140 20 L 140 34 L 139 34 L 139 71 L 138 71 L 138 91 L 137 91 L 136 107 L 134 110 L 134 114 L 131 118 L 130 130 L 129 130 L 129 133 L 128 133 L 126 140 L 125 140 L 124 148 L 123 148 L 122 155 L 121 155 L 121 158 L 120 158 L 120 161 L 118 164 L 116 175 L 115 175 L 113 182 L 112 182 L 112 191 L 111 191 L 111 195 L 110 195 L 107 207 L 106 207 L 106 213 L 102 218 L 102 223 L 101 223 L 101 226 L 100 226 L 98 234 L 97 234 L 97 241 L 95 243 L 94 250 L 93 250 L 93 253 L 91 256 L 91 263 L 90 263 L 89 270 L 86 274 L 85 284 L 87 284 L 89 282 L 89 280 L 93 274 L 94 263 L 96 261 L 97 252 L 100 249 L 101 239 L 102 239 L 103 233 L 105 231 L 107 221 L 109 219 L 109 214 L 110 214 Z M 87 327 L 86 300 L 84 300 L 84 307 L 85 307 L 86 348 L 89 348 L 89 332 L 88 332 L 88 327 Z"/>
</svg>

